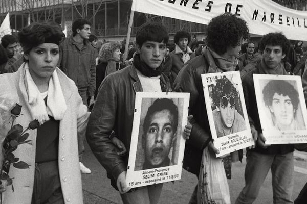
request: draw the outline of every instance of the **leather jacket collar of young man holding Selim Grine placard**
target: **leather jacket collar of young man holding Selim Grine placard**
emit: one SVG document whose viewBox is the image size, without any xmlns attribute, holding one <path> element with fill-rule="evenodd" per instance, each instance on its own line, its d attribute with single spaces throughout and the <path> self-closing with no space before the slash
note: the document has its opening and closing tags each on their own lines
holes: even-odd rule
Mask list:
<svg viewBox="0 0 307 204">
<path fill-rule="evenodd" d="M 137 74 L 137 71 L 136 71 L 136 68 L 134 66 L 134 64 L 131 64 L 129 67 L 127 67 L 129 70 L 129 74 L 130 74 L 130 77 L 134 80 L 133 82 L 133 89 L 135 92 L 140 92 L 140 91 L 143 91 L 143 88 L 142 88 L 142 85 L 141 85 L 141 82 L 140 82 L 140 79 L 138 77 L 138 74 Z M 125 68 L 125 69 L 127 69 Z M 167 79 L 166 79 L 166 75 L 164 73 L 161 74 L 161 77 L 160 77 L 160 86 L 161 86 L 161 90 L 162 92 L 172 92 L 172 88 L 170 88 L 170 86 L 168 86 L 168 82 L 167 82 Z"/>
</svg>

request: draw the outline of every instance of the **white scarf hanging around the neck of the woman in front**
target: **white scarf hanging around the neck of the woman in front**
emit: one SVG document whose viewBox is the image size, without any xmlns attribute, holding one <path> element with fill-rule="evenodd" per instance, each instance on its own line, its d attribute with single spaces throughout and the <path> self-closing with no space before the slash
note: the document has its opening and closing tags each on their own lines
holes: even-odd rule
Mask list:
<svg viewBox="0 0 307 204">
<path fill-rule="evenodd" d="M 67 105 L 56 70 L 49 80 L 46 107 L 45 101 L 31 77 L 28 63 L 24 63 L 21 67 L 24 67 L 25 88 L 28 94 L 25 99 L 28 98 L 33 118 L 41 124 L 49 120 L 48 115 L 54 117 L 55 120 L 62 120 Z"/>
</svg>

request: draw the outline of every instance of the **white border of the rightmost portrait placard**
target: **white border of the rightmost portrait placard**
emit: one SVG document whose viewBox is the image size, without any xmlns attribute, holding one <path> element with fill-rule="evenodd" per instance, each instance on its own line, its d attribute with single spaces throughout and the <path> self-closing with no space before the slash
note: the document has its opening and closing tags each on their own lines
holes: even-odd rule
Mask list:
<svg viewBox="0 0 307 204">
<path fill-rule="evenodd" d="M 257 100 L 258 114 L 260 124 L 262 128 L 262 134 L 266 138 L 266 144 L 295 144 L 295 143 L 307 143 L 307 130 L 291 130 L 291 131 L 279 131 L 268 129 L 266 121 L 268 116 L 266 114 L 266 107 L 264 105 L 262 90 L 260 90 L 259 80 L 285 80 L 295 81 L 296 90 L 299 95 L 299 107 L 304 119 L 305 128 L 307 128 L 307 109 L 304 98 L 304 92 L 300 76 L 293 75 L 273 75 L 273 74 L 253 74 L 255 94 Z"/>
</svg>

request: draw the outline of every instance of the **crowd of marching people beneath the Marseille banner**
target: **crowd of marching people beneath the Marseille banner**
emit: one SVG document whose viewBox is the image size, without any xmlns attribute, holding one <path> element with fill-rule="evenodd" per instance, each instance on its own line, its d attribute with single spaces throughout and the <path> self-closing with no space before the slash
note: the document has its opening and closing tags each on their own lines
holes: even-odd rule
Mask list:
<svg viewBox="0 0 307 204">
<path fill-rule="evenodd" d="M 83 203 L 80 173 L 91 173 L 82 161 L 85 137 L 123 203 L 158 203 L 163 183 L 131 189 L 125 182 L 136 92 L 190 93 L 188 124 L 183 136 L 186 139 L 183 168 L 198 176 L 204 149 L 219 153 L 212 142 L 201 74 L 234 70 L 239 70 L 242 77 L 255 141 L 247 149 L 245 186 L 235 203 L 253 203 L 270 169 L 274 203 L 305 203 L 307 184 L 295 202 L 292 200 L 294 144 L 265 143 L 253 80 L 256 73 L 301 74 L 307 93 L 303 43 L 295 44 L 282 33 L 268 33 L 256 46 L 249 38 L 246 21 L 228 13 L 210 21 L 205 41 L 197 40 L 196 35 L 191 39 L 186 31 L 174 35 L 174 44 L 168 41 L 164 25 L 145 23 L 136 33 L 136 43 L 129 42 L 128 58 L 123 59 L 122 43 L 99 41 L 91 34 L 91 22 L 86 19 L 75 20 L 72 35 L 66 38 L 57 25 L 49 23 L 31 24 L 18 33 L 18 38 L 2 37 L 0 97 L 24 107 L 16 120 L 21 125 L 26 126 L 33 119 L 41 124 L 29 133 L 32 144 L 15 152 L 30 168 L 11 167 L 14 192 L 3 184 L 0 186 L 4 203 Z M 220 125 L 215 128 L 221 136 L 233 132 L 234 121 L 244 123 L 232 108 L 232 97 L 237 92 L 231 82 L 227 78 L 218 80 L 214 91 L 221 93 L 224 84 L 230 87 L 229 92 L 217 94 L 213 101 L 217 107 L 214 114 L 220 116 L 216 117 Z M 145 146 L 149 143 L 148 151 L 151 143 L 171 143 L 177 127 L 177 122 L 173 124 L 178 120 L 174 119 L 178 114 L 173 113 L 177 110 L 163 108 L 166 103 L 172 107 L 172 102 L 157 103 L 161 110 L 153 111 L 147 120 L 161 121 L 161 115 L 168 115 L 171 134 L 166 135 L 171 138 L 162 137 L 158 130 L 148 132 L 149 124 L 144 124 L 144 137 L 150 137 L 144 139 Z M 231 124 L 223 118 L 226 112 L 236 115 Z M 147 157 L 144 169 L 170 162 L 169 159 L 153 162 L 150 157 L 153 156 Z M 230 161 L 231 166 L 231 162 L 242 157 L 242 153 L 233 152 L 224 161 Z M 201 203 L 199 188 L 198 184 L 191 189 L 190 204 Z"/>
</svg>

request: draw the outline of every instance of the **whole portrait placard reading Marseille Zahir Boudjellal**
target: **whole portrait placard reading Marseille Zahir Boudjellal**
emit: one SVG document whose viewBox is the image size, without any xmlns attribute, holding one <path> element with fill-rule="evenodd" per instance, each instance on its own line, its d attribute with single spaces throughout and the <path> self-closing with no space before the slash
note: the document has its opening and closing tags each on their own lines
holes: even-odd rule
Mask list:
<svg viewBox="0 0 307 204">
<path fill-rule="evenodd" d="M 239 71 L 202 74 L 202 82 L 216 157 L 254 145 Z"/>
</svg>

